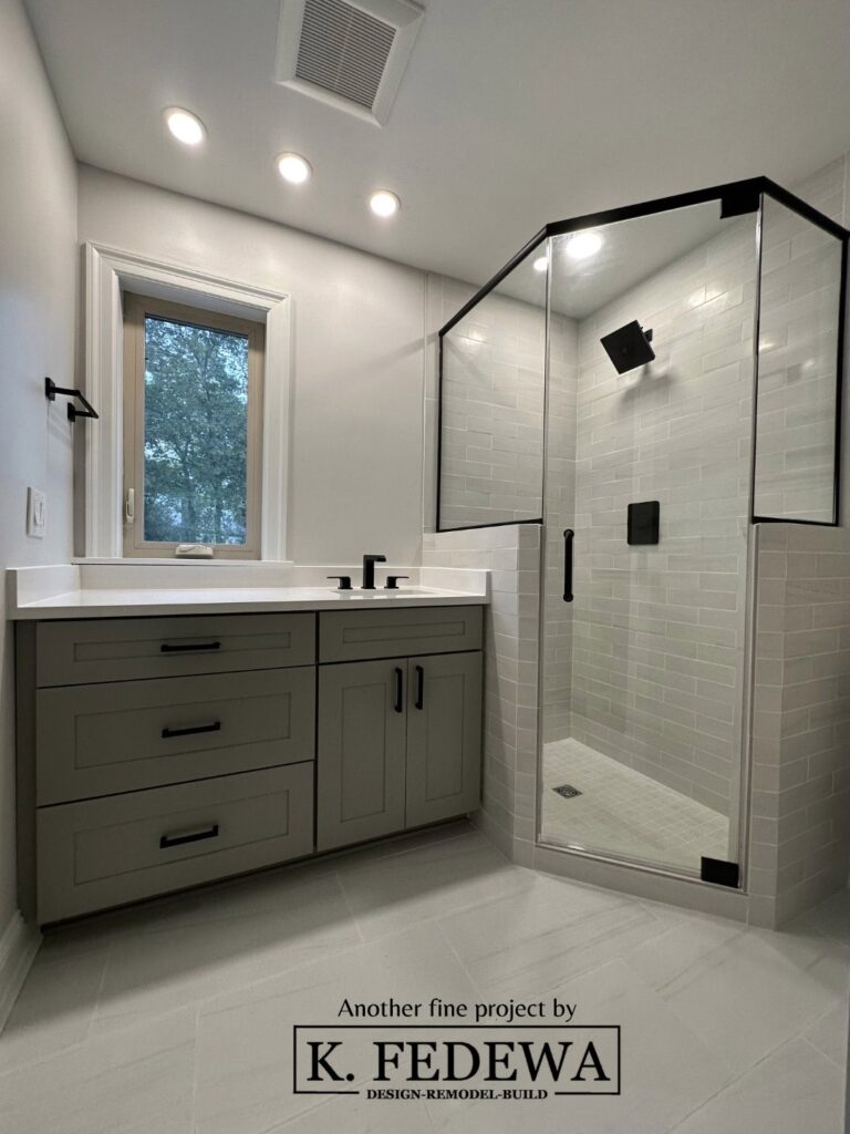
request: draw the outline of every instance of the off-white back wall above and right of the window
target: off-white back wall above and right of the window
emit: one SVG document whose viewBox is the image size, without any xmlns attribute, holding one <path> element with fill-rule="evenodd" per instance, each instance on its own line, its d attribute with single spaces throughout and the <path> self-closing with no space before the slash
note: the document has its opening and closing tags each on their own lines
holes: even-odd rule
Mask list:
<svg viewBox="0 0 850 1134">
<path fill-rule="evenodd" d="M 420 271 L 86 166 L 79 239 L 289 293 L 288 558 L 355 562 L 375 551 L 418 561 Z"/>
</svg>

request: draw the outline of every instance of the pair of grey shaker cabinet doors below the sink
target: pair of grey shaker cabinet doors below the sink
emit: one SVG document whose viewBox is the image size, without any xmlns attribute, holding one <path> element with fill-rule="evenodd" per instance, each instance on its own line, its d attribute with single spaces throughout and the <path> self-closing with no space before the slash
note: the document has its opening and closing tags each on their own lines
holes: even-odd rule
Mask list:
<svg viewBox="0 0 850 1134">
<path fill-rule="evenodd" d="M 479 652 L 323 666 L 316 849 L 475 810 L 481 718 Z"/>
</svg>

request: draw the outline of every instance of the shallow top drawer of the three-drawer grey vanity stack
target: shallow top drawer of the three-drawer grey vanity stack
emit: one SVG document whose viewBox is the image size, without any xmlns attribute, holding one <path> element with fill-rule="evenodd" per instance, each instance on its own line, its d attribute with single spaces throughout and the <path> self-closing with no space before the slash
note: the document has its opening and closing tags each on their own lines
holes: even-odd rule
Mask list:
<svg viewBox="0 0 850 1134">
<path fill-rule="evenodd" d="M 184 615 L 40 623 L 36 684 L 279 669 L 315 661 L 315 615 Z"/>
</svg>

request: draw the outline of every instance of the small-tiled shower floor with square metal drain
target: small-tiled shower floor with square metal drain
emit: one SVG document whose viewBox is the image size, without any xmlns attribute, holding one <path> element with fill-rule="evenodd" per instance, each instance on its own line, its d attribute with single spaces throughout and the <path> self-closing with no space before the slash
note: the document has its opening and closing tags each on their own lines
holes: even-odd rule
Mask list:
<svg viewBox="0 0 850 1134">
<path fill-rule="evenodd" d="M 554 789 L 580 792 L 564 798 Z M 703 855 L 729 857 L 729 819 L 579 741 L 543 754 L 544 839 L 699 872 Z"/>
</svg>

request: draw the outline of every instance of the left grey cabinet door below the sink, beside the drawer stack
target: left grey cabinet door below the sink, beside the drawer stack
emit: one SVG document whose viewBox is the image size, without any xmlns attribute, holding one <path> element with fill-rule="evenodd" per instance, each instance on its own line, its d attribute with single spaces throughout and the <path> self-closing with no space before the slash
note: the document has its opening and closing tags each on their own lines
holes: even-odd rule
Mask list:
<svg viewBox="0 0 850 1134">
<path fill-rule="evenodd" d="M 403 659 L 320 668 L 318 850 L 403 828 L 406 685 Z"/>
</svg>

